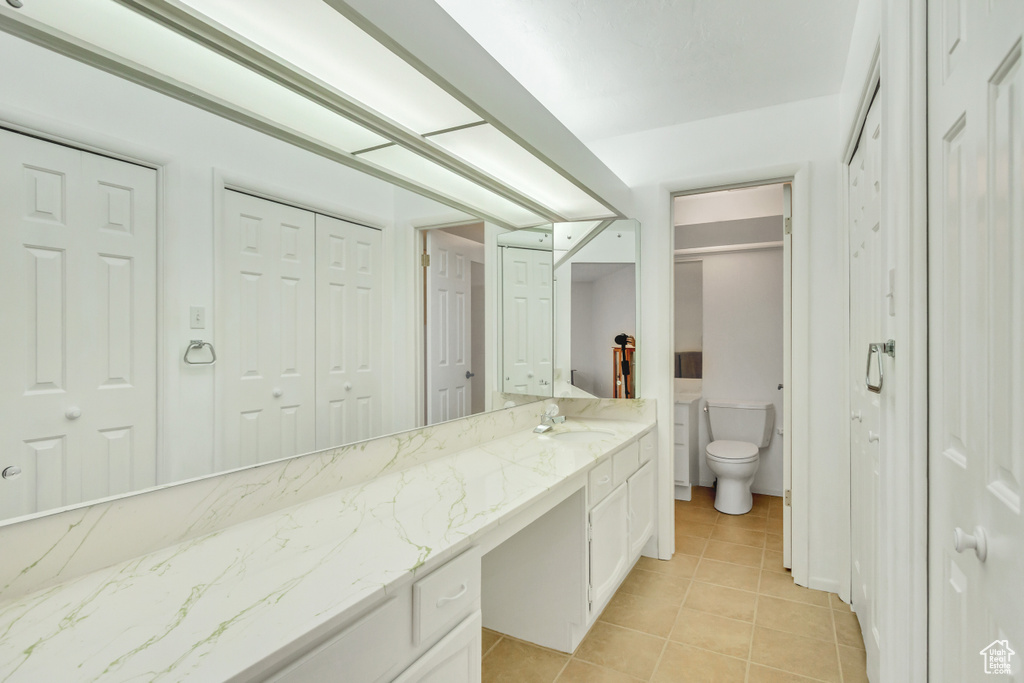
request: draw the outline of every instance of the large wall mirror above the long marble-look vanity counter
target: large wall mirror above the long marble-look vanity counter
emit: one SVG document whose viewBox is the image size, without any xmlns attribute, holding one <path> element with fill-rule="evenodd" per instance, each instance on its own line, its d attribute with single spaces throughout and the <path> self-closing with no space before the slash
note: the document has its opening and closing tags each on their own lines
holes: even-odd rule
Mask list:
<svg viewBox="0 0 1024 683">
<path fill-rule="evenodd" d="M 4 14 L 0 50 L 18 68 L 0 73 L 0 523 L 427 421 L 410 380 L 428 345 L 410 332 L 416 228 L 478 216 L 308 148 L 379 143 L 342 140 L 361 133 L 325 128 L 308 102 L 271 97 L 294 125 L 269 134 L 271 113 L 218 116 L 11 26 Z M 484 229 L 502 296 L 528 301 L 495 299 L 478 391 L 550 396 L 552 230 Z M 546 251 L 514 244 L 539 236 Z M 499 359 L 520 356 L 516 373 Z"/>
</svg>

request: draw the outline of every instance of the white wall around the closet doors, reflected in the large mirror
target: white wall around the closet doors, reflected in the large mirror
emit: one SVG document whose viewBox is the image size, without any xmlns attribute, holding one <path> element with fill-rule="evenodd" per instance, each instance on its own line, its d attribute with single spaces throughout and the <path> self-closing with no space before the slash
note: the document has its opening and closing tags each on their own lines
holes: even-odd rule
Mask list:
<svg viewBox="0 0 1024 683">
<path fill-rule="evenodd" d="M 188 339 L 212 340 L 216 316 L 214 249 L 218 181 L 288 199 L 383 228 L 384 300 L 412 306 L 415 236 L 425 215 L 465 218 L 446 207 L 371 178 L 183 102 L 0 33 L 0 51 L 17 69 L 0 73 L 0 120 L 47 136 L 123 155 L 161 168 L 159 318 L 161 482 L 213 467 L 214 373 L 180 361 Z M 408 267 L 404 265 L 408 263 Z M 188 307 L 205 306 L 207 329 L 188 327 Z M 385 316 L 384 340 L 394 415 L 386 430 L 413 426 L 403 364 L 415 356 L 404 318 Z"/>
</svg>

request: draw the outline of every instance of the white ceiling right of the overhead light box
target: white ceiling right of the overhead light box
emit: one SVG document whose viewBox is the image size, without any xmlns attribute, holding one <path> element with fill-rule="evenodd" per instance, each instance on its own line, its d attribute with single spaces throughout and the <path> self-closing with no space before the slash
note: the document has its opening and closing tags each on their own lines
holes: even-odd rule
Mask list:
<svg viewBox="0 0 1024 683">
<path fill-rule="evenodd" d="M 839 91 L 857 0 L 436 0 L 584 142 Z"/>
</svg>

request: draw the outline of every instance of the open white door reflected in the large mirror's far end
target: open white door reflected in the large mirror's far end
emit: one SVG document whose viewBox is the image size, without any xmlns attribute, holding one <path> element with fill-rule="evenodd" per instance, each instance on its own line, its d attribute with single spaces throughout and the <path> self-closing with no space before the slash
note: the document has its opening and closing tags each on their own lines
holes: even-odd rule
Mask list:
<svg viewBox="0 0 1024 683">
<path fill-rule="evenodd" d="M 483 223 L 426 232 L 427 424 L 483 411 Z"/>
</svg>

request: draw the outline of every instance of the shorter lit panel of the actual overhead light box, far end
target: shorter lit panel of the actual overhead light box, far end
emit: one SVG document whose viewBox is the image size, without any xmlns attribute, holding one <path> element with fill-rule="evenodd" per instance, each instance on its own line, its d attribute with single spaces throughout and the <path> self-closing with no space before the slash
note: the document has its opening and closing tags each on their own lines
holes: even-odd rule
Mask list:
<svg viewBox="0 0 1024 683">
<path fill-rule="evenodd" d="M 572 220 L 614 213 L 489 124 L 432 135 L 430 140 L 510 187 Z"/>
</svg>

